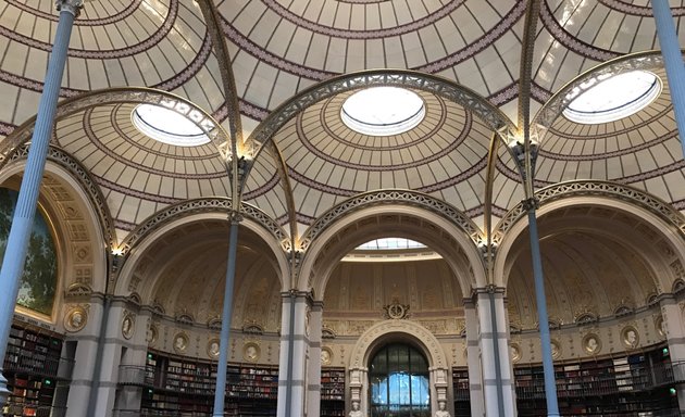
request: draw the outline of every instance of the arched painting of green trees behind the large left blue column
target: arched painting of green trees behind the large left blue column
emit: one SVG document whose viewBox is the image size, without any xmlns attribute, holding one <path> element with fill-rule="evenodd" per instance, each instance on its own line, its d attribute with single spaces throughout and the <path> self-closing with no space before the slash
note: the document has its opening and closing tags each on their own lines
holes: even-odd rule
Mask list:
<svg viewBox="0 0 685 417">
<path fill-rule="evenodd" d="M 18 192 L 0 188 L 0 265 L 10 236 Z M 42 213 L 36 212 L 16 303 L 50 315 L 57 289 L 57 250 Z"/>
</svg>

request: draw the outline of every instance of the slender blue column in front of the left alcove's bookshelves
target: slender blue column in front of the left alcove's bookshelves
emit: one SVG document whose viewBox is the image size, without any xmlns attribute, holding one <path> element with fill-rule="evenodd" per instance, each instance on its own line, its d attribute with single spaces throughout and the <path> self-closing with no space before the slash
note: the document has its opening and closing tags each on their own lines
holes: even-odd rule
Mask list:
<svg viewBox="0 0 685 417">
<path fill-rule="evenodd" d="M 228 267 L 226 269 L 226 287 L 224 287 L 224 311 L 221 315 L 221 338 L 219 343 L 219 364 L 216 364 L 216 390 L 214 391 L 213 417 L 224 415 L 226 397 L 226 365 L 228 363 L 228 336 L 233 314 L 233 285 L 236 278 L 236 254 L 238 250 L 238 224 L 240 216 L 231 214 L 231 231 L 228 237 Z"/>
</svg>

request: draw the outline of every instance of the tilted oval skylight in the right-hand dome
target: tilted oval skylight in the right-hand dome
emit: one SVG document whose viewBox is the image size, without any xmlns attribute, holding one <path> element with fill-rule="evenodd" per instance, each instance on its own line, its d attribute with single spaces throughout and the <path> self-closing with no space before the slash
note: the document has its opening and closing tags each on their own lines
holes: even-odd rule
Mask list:
<svg viewBox="0 0 685 417">
<path fill-rule="evenodd" d="M 605 75 L 576 87 L 563 115 L 573 122 L 598 124 L 618 121 L 646 108 L 661 93 L 661 80 L 646 71 Z"/>
</svg>

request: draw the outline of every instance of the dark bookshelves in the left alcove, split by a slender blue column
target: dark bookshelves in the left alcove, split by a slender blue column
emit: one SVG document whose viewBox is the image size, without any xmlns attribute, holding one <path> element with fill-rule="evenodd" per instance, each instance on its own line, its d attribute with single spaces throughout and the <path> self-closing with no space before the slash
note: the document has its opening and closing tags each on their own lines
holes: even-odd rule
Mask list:
<svg viewBox="0 0 685 417">
<path fill-rule="evenodd" d="M 228 364 L 226 416 L 275 416 L 278 368 Z M 142 416 L 211 416 L 216 363 L 149 352 Z"/>
</svg>

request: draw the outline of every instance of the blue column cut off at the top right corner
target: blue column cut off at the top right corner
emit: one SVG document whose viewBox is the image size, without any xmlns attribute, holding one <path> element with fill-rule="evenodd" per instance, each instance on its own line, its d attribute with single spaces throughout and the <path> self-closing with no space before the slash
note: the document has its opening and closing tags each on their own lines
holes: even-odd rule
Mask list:
<svg viewBox="0 0 685 417">
<path fill-rule="evenodd" d="M 685 155 L 685 67 L 683 66 L 683 53 L 677 41 L 675 25 L 669 0 L 651 0 L 651 8 L 657 21 L 657 35 L 659 46 L 667 68 L 669 89 L 671 90 L 671 101 L 675 113 L 678 137 L 683 155 Z"/>
</svg>

